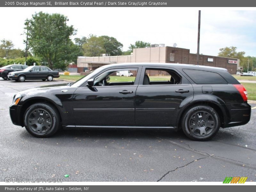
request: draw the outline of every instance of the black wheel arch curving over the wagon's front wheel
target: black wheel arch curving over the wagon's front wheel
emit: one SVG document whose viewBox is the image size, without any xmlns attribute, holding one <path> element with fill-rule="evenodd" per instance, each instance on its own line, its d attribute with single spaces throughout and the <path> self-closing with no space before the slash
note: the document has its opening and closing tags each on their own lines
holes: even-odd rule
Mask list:
<svg viewBox="0 0 256 192">
<path fill-rule="evenodd" d="M 48 98 L 44 98 L 44 97 L 36 97 L 36 98 L 32 98 L 32 99 L 29 99 L 29 100 L 26 100 L 23 104 L 22 104 L 22 107 L 21 107 L 21 110 L 20 110 L 20 124 L 21 126 L 23 127 L 24 126 L 24 122 L 22 121 L 23 120 L 23 117 L 24 117 L 24 114 L 25 114 L 25 111 L 26 109 L 30 106 L 30 105 L 33 105 L 35 103 L 48 103 L 48 104 L 51 104 L 59 113 L 60 115 L 60 120 L 62 122 L 62 116 L 61 116 L 61 113 L 60 113 L 60 109 L 59 107 L 56 105 L 56 103 L 54 103 L 52 100 L 48 99 Z"/>
</svg>

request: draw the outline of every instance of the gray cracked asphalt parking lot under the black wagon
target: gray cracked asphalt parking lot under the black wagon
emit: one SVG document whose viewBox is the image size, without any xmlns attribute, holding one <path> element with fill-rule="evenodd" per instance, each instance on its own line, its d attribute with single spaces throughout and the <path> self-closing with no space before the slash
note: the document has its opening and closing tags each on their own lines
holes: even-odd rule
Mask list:
<svg viewBox="0 0 256 192">
<path fill-rule="evenodd" d="M 256 108 L 248 124 L 221 128 L 206 142 L 166 130 L 69 129 L 41 139 L 12 124 L 14 93 L 60 83 L 0 78 L 0 181 L 256 181 Z"/>
</svg>

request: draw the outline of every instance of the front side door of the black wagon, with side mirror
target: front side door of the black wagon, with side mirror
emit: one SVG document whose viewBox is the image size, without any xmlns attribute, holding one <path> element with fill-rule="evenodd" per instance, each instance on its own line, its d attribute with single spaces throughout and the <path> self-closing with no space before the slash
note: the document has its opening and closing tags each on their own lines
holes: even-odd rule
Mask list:
<svg viewBox="0 0 256 192">
<path fill-rule="evenodd" d="M 127 68 L 105 69 L 94 76 L 93 86 L 76 89 L 72 101 L 76 126 L 134 126 L 135 92 L 140 76 L 116 76 L 117 71 L 123 70 Z M 140 74 L 141 67 L 129 70 Z M 110 74 L 109 82 L 104 81 L 106 74 Z"/>
</svg>

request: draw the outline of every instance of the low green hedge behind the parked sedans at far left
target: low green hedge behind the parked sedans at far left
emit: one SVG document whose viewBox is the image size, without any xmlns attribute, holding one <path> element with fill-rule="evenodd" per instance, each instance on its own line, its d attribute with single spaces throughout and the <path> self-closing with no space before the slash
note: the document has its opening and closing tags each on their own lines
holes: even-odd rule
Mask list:
<svg viewBox="0 0 256 192">
<path fill-rule="evenodd" d="M 40 65 L 41 60 L 35 57 L 28 57 L 27 58 L 27 63 L 26 65 L 31 66 L 34 65 L 34 63 L 36 63 L 36 65 Z M 25 57 L 22 58 L 18 58 L 18 59 L 3 59 L 0 58 L 0 67 L 6 66 L 6 65 L 12 65 L 12 64 L 24 64 L 25 62 Z"/>
</svg>

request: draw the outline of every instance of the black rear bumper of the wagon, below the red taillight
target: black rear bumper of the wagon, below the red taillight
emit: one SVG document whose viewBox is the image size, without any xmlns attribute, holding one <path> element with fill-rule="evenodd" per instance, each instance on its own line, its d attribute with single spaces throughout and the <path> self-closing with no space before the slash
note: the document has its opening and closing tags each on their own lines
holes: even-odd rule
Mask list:
<svg viewBox="0 0 256 192">
<path fill-rule="evenodd" d="M 230 112 L 230 121 L 223 124 L 221 127 L 234 127 L 239 125 L 247 124 L 251 118 L 251 106 L 248 103 L 243 103 L 239 107 L 238 105 L 232 105 Z"/>
</svg>

